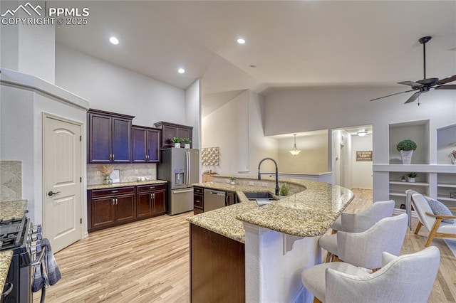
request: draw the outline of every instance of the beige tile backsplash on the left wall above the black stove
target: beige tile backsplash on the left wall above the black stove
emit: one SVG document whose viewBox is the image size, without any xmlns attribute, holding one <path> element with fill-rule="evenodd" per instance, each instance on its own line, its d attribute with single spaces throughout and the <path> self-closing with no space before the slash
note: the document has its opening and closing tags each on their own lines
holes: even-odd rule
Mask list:
<svg viewBox="0 0 456 303">
<path fill-rule="evenodd" d="M 0 201 L 22 198 L 22 161 L 0 161 Z"/>
</svg>

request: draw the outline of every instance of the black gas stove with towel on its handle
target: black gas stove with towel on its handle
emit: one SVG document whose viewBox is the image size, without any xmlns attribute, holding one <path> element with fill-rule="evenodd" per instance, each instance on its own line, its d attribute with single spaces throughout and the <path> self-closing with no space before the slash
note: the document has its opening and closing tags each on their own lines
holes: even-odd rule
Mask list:
<svg viewBox="0 0 456 303">
<path fill-rule="evenodd" d="M 41 225 L 33 226 L 26 216 L 0 220 L 0 250 L 13 250 L 6 282 L 13 290 L 6 302 L 31 302 L 33 262 L 41 252 Z M 0 289 L 1 290 L 1 289 Z"/>
</svg>

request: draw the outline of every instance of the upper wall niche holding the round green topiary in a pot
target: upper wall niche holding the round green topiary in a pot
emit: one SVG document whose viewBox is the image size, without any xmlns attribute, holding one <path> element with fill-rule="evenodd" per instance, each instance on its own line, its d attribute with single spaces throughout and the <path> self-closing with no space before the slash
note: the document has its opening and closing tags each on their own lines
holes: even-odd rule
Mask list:
<svg viewBox="0 0 456 303">
<path fill-rule="evenodd" d="M 417 144 L 411 164 L 429 164 L 429 120 L 389 125 L 390 164 L 402 164 L 400 152 L 396 146 L 405 139 L 413 140 Z"/>
</svg>

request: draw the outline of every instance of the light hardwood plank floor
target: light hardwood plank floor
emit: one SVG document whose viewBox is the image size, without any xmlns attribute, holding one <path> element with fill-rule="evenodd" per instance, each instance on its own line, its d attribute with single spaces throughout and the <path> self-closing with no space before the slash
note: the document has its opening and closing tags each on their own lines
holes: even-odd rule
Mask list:
<svg viewBox="0 0 456 303">
<path fill-rule="evenodd" d="M 372 203 L 372 191 L 353 189 L 346 211 Z M 192 212 L 160 216 L 90 233 L 56 253 L 62 279 L 46 289 L 46 302 L 189 302 L 189 228 Z M 416 220 L 413 220 L 413 227 Z M 408 230 L 401 254 L 424 248 L 427 232 Z M 456 257 L 441 239 L 440 270 L 429 302 L 456 302 Z M 323 255 L 323 260 L 324 260 Z M 33 295 L 39 302 L 40 292 Z"/>
</svg>

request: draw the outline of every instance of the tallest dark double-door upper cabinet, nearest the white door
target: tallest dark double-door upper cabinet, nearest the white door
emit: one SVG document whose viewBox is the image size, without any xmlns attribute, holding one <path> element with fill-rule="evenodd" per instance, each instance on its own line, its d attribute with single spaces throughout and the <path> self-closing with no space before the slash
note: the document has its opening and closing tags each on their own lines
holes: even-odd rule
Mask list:
<svg viewBox="0 0 456 303">
<path fill-rule="evenodd" d="M 88 110 L 88 163 L 130 163 L 133 118 Z"/>
</svg>

